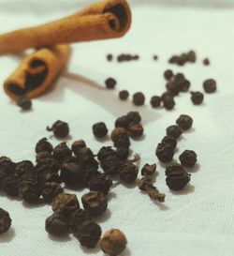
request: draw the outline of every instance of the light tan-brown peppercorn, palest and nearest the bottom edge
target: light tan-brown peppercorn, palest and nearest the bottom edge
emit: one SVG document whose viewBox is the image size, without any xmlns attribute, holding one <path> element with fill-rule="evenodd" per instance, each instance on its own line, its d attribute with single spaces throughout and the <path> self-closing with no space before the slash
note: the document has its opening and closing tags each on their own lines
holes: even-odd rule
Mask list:
<svg viewBox="0 0 234 256">
<path fill-rule="evenodd" d="M 126 237 L 123 232 L 117 229 L 112 229 L 104 233 L 100 240 L 100 247 L 104 253 L 109 255 L 118 255 L 126 248 Z"/>
</svg>

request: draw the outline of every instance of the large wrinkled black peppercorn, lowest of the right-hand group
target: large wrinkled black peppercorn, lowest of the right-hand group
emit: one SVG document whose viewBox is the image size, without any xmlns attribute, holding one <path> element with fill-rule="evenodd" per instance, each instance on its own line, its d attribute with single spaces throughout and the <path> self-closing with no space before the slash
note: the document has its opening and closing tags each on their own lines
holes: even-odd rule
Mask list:
<svg viewBox="0 0 234 256">
<path fill-rule="evenodd" d="M 175 163 L 166 168 L 166 182 L 172 190 L 183 189 L 190 181 L 191 174 L 187 173 L 181 164 Z"/>
</svg>

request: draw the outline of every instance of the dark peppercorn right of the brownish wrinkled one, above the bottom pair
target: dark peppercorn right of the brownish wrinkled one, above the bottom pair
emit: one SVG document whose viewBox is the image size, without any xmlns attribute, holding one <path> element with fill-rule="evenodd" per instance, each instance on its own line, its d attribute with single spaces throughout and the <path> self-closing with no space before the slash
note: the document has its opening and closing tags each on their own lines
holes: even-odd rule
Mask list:
<svg viewBox="0 0 234 256">
<path fill-rule="evenodd" d="M 107 196 L 100 191 L 90 191 L 82 195 L 83 208 L 93 216 L 102 215 L 108 207 Z"/>
</svg>

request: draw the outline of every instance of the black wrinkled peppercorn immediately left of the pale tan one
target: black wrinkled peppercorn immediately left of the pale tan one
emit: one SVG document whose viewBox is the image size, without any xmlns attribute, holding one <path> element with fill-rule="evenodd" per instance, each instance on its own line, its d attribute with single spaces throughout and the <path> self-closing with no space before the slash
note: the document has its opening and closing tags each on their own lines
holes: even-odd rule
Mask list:
<svg viewBox="0 0 234 256">
<path fill-rule="evenodd" d="M 94 221 L 86 220 L 80 223 L 73 233 L 78 238 L 80 245 L 86 248 L 95 248 L 101 237 L 101 228 Z"/>
</svg>

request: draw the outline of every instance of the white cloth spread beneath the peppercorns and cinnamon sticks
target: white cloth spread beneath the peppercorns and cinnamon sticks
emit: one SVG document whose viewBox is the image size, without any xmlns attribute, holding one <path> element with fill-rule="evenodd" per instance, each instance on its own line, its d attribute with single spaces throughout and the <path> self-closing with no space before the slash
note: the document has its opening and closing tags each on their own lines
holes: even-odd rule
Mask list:
<svg viewBox="0 0 234 256">
<path fill-rule="evenodd" d="M 51 21 L 80 8 L 79 1 L 36 2 L 0 1 L 0 32 Z M 15 161 L 34 160 L 35 143 L 49 136 L 45 128 L 57 119 L 70 125 L 69 144 L 82 138 L 97 152 L 103 144 L 111 143 L 95 140 L 91 129 L 95 122 L 104 120 L 111 130 L 116 117 L 139 111 L 145 138 L 132 142 L 132 148 L 141 156 L 140 166 L 145 162 L 157 163 L 156 184 L 166 193 L 166 202 L 154 203 L 138 188 L 122 185 L 112 188 L 109 210 L 98 219 L 102 230 L 124 231 L 128 249 L 123 256 L 231 256 L 234 255 L 234 9 L 230 8 L 232 1 L 226 1 L 227 5 L 215 1 L 214 8 L 202 8 L 202 4 L 183 7 L 177 5 L 182 1 L 172 2 L 174 5 L 170 7 L 160 1 L 156 4 L 144 1 L 145 5 L 134 5 L 132 1 L 133 25 L 126 37 L 73 45 L 67 71 L 54 91 L 33 101 L 33 111 L 21 113 L 2 91 L 0 155 Z M 196 64 L 183 68 L 168 65 L 172 53 L 190 49 L 197 52 Z M 107 53 L 139 53 L 140 61 L 109 63 L 105 58 Z M 158 61 L 152 60 L 154 53 L 158 54 Z M 207 56 L 212 62 L 210 67 L 201 63 Z M 1 83 L 19 63 L 16 56 L 0 58 Z M 193 106 L 189 94 L 182 94 L 176 98 L 173 111 L 154 110 L 149 100 L 154 94 L 164 92 L 166 68 L 184 72 L 193 90 L 202 90 L 202 82 L 214 78 L 218 91 L 205 95 L 201 106 Z M 103 90 L 92 83 L 103 84 L 109 76 L 117 79 L 116 90 Z M 131 94 L 143 91 L 146 105 L 138 108 L 131 100 L 121 102 L 118 99 L 121 89 Z M 166 186 L 164 168 L 155 158 L 154 150 L 165 128 L 181 113 L 194 118 L 194 128 L 183 134 L 175 159 L 184 149 L 193 149 L 198 164 L 190 185 L 174 193 Z M 51 137 L 51 143 L 59 141 Z M 80 198 L 83 192 L 76 193 Z M 0 236 L 3 256 L 103 255 L 98 248 L 80 248 L 72 235 L 66 239 L 49 237 L 44 229 L 45 218 L 51 215 L 49 205 L 28 206 L 1 194 L 0 207 L 9 211 L 13 219 L 10 231 Z"/>
</svg>

